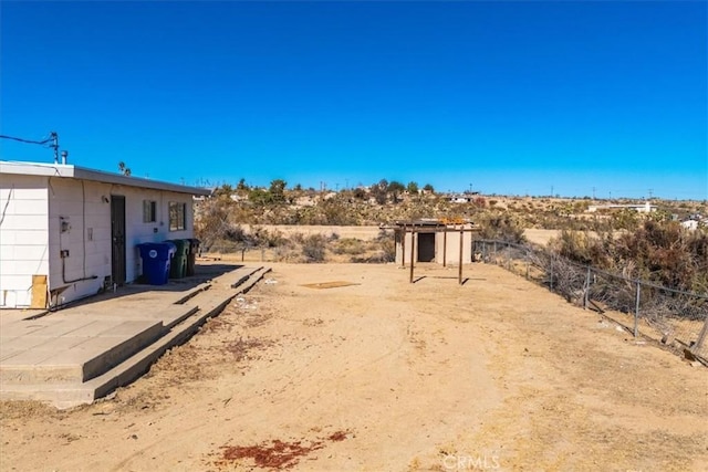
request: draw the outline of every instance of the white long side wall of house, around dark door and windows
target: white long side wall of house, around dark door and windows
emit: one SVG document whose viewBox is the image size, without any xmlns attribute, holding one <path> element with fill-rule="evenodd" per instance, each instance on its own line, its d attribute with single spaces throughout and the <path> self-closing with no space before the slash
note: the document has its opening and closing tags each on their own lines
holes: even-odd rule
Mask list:
<svg viewBox="0 0 708 472">
<path fill-rule="evenodd" d="M 194 234 L 190 195 L 76 179 L 50 179 L 50 291 L 64 289 L 53 303 L 98 293 L 111 282 L 111 196 L 125 197 L 126 282 L 143 274 L 138 244 Z M 144 200 L 155 201 L 154 222 L 143 221 Z M 169 202 L 186 203 L 186 229 L 169 231 Z M 69 224 L 69 229 L 62 223 Z M 62 251 L 67 258 L 61 258 Z"/>
</svg>

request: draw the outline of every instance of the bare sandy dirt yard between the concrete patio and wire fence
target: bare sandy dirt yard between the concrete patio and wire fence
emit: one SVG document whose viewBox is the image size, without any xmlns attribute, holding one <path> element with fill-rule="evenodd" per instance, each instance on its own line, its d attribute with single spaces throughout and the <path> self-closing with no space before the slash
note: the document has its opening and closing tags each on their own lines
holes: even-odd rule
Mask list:
<svg viewBox="0 0 708 472">
<path fill-rule="evenodd" d="M 501 268 L 272 266 L 111 398 L 1 403 L 0 469 L 708 470 L 707 368 Z"/>
</svg>

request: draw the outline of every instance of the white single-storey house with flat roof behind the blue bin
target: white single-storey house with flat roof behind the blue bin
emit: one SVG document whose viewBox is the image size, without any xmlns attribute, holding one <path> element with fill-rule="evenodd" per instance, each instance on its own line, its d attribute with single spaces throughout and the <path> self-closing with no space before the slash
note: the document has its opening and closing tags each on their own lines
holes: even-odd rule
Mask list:
<svg viewBox="0 0 708 472">
<path fill-rule="evenodd" d="M 142 274 L 137 245 L 194 235 L 207 189 L 0 161 L 0 308 L 53 307 Z"/>
</svg>

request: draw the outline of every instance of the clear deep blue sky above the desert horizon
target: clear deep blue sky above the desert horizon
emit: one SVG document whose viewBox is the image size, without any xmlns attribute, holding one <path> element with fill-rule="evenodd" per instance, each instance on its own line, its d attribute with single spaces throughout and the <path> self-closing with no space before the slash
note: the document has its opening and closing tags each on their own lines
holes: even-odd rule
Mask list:
<svg viewBox="0 0 708 472">
<path fill-rule="evenodd" d="M 188 185 L 702 200 L 707 24 L 704 1 L 2 1 L 0 134 Z"/>
</svg>

